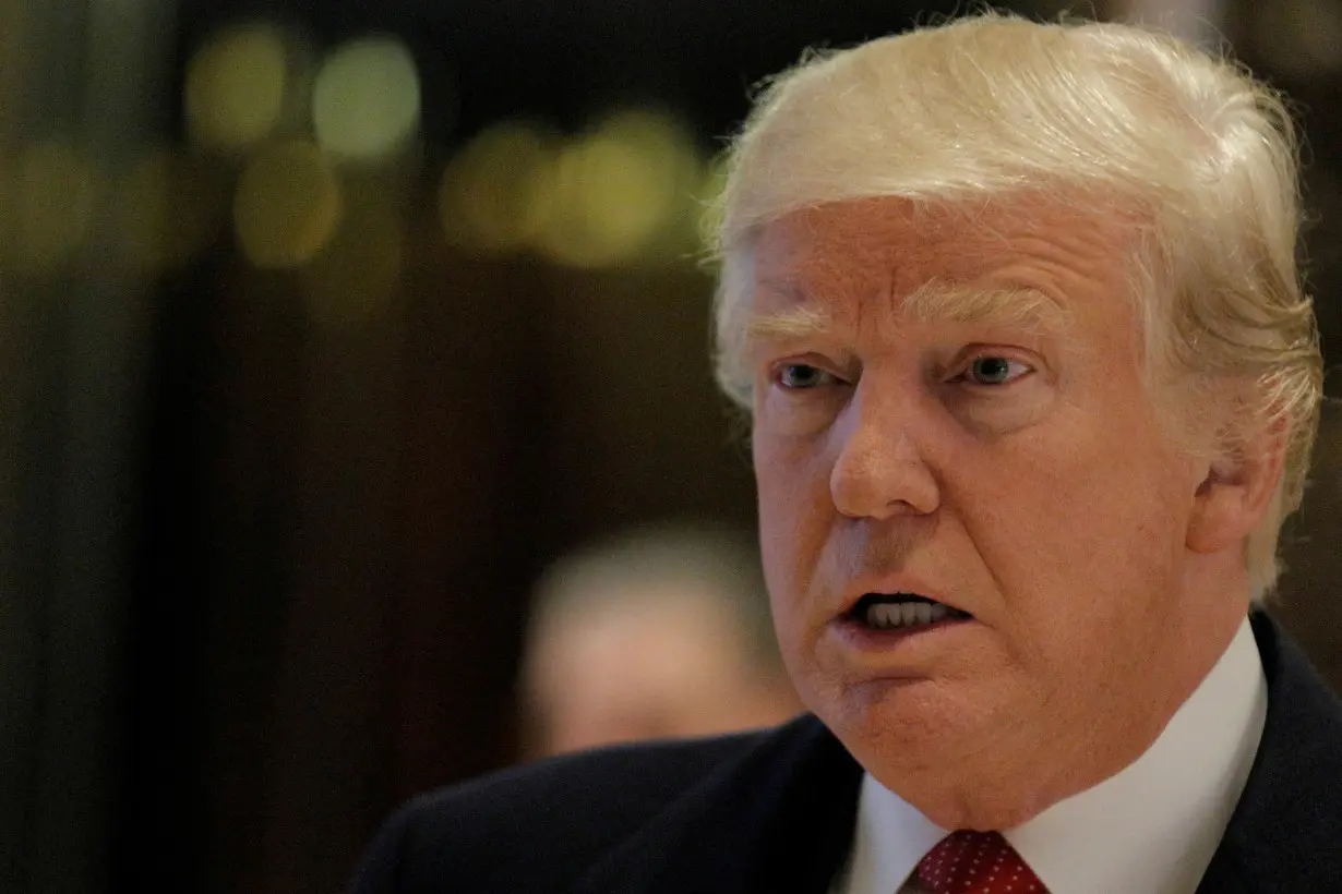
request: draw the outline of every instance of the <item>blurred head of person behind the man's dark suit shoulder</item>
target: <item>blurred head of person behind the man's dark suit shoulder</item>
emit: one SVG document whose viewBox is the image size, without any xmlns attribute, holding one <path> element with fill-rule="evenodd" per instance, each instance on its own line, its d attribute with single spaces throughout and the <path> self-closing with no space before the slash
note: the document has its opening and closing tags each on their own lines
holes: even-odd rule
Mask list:
<svg viewBox="0 0 1342 894">
<path fill-rule="evenodd" d="M 552 566 L 523 649 L 530 755 L 735 732 L 796 714 L 758 562 L 727 532 L 660 525 Z"/>
</svg>

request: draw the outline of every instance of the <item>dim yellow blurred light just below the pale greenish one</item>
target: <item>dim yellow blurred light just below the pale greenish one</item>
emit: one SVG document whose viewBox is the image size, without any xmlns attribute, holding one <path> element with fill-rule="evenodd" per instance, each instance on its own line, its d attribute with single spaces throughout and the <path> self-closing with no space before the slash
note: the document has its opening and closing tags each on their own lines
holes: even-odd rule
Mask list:
<svg viewBox="0 0 1342 894">
<path fill-rule="evenodd" d="M 234 225 L 256 267 L 298 267 L 334 235 L 341 184 L 313 143 L 287 139 L 262 147 L 238 181 Z"/>
</svg>

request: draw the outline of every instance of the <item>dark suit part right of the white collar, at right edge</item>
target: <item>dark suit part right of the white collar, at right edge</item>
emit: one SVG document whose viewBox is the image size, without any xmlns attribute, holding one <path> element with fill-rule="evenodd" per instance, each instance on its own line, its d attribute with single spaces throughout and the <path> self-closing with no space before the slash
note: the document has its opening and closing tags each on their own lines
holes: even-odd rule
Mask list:
<svg viewBox="0 0 1342 894">
<path fill-rule="evenodd" d="M 1252 623 L 1267 720 L 1198 894 L 1342 890 L 1342 705 L 1271 618 Z"/>
</svg>

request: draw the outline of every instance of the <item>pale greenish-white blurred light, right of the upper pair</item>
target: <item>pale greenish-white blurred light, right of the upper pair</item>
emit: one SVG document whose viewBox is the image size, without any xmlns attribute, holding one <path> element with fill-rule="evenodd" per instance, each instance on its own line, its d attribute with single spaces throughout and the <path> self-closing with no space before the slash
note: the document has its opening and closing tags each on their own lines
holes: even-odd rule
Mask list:
<svg viewBox="0 0 1342 894">
<path fill-rule="evenodd" d="M 364 38 L 336 50 L 317 72 L 313 127 L 333 155 L 376 161 L 416 133 L 420 82 L 415 58 L 393 38 Z"/>
</svg>

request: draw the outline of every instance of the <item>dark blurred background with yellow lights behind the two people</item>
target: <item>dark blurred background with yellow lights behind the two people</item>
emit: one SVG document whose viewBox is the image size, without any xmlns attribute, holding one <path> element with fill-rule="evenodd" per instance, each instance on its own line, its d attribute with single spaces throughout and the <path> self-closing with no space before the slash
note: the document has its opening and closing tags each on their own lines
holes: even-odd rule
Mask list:
<svg viewBox="0 0 1342 894">
<path fill-rule="evenodd" d="M 698 237 L 750 86 L 957 5 L 0 0 L 0 890 L 336 891 L 544 751 L 554 562 L 753 527 Z M 1087 11 L 1296 99 L 1335 363 L 1342 3 Z M 1279 603 L 1335 681 L 1339 460 Z"/>
</svg>

